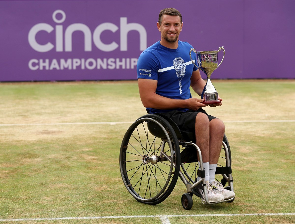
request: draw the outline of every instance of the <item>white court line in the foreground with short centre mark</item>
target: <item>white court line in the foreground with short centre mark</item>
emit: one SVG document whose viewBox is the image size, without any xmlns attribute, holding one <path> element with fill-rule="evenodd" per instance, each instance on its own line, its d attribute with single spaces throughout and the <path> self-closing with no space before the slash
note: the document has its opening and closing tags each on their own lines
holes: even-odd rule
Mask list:
<svg viewBox="0 0 295 224">
<path fill-rule="evenodd" d="M 81 219 L 117 219 L 117 218 L 159 218 L 162 224 L 170 224 L 171 217 L 209 217 L 209 216 L 270 216 L 295 215 L 295 213 L 253 213 L 253 214 L 199 214 L 199 215 L 133 215 L 133 216 L 93 216 L 93 217 L 62 217 L 62 218 L 20 218 L 0 219 L 0 222 L 42 221 L 42 220 L 81 220 Z"/>
</svg>

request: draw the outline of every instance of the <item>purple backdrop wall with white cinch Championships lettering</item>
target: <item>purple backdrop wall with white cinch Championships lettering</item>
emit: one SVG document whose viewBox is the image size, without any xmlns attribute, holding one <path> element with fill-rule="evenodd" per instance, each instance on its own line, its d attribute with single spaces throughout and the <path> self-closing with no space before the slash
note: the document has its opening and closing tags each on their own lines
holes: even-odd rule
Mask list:
<svg viewBox="0 0 295 224">
<path fill-rule="evenodd" d="M 295 78 L 292 0 L 40 0 L 0 1 L 0 81 L 136 79 L 166 7 L 183 15 L 181 41 L 224 46 L 213 79 Z"/>
</svg>

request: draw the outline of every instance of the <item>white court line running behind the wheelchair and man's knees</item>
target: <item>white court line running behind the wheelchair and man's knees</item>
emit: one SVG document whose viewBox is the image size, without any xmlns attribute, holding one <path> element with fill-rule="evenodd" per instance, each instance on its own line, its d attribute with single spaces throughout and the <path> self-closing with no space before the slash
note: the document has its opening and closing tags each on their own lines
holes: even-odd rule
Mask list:
<svg viewBox="0 0 295 224">
<path fill-rule="evenodd" d="M 241 120 L 241 121 L 223 121 L 224 123 L 281 123 L 281 122 L 295 122 L 295 120 Z M 117 125 L 117 124 L 132 124 L 131 121 L 125 122 L 70 122 L 70 123 L 28 123 L 28 124 L 0 124 L 0 127 L 5 126 L 47 126 L 47 125 Z"/>
</svg>

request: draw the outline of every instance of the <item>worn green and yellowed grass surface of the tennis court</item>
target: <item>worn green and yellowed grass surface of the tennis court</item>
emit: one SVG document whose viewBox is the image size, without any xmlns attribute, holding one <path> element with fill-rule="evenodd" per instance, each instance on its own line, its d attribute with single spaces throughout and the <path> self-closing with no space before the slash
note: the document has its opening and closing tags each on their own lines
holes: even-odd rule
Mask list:
<svg viewBox="0 0 295 224">
<path fill-rule="evenodd" d="M 127 192 L 119 171 L 119 149 L 130 124 L 87 124 L 133 122 L 144 115 L 136 81 L 0 84 L 0 219 L 294 213 L 295 122 L 290 102 L 295 81 L 212 82 L 223 105 L 206 110 L 226 125 L 236 199 L 207 206 L 193 197 L 189 211 L 181 206 L 185 186 L 180 180 L 155 206 L 139 203 Z M 86 124 L 62 124 L 77 122 Z M 148 220 L 161 223 L 159 218 Z M 294 223 L 295 216 L 169 220 L 285 224 Z M 146 222 L 146 218 L 112 218 L 1 223 Z"/>
</svg>

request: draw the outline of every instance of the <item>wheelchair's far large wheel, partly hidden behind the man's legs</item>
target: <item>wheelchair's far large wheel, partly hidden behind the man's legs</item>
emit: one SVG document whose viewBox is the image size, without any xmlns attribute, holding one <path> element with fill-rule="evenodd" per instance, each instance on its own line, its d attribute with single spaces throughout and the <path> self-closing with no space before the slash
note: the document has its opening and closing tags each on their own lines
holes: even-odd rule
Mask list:
<svg viewBox="0 0 295 224">
<path fill-rule="evenodd" d="M 219 160 L 217 163 L 217 167 L 226 167 L 226 156 L 225 156 L 225 148 L 228 149 L 229 153 L 229 160 L 230 165 L 232 163 L 231 161 L 231 153 L 230 153 L 230 145 L 228 143 L 226 135 L 224 135 L 221 145 L 221 153 L 219 156 Z M 190 155 L 189 157 L 187 155 Z M 194 184 L 197 178 L 197 171 L 199 169 L 199 162 L 197 159 L 197 152 L 196 148 L 189 145 L 184 145 L 183 148 L 181 148 L 181 169 L 183 171 L 183 174 L 186 176 L 187 180 Z M 224 174 L 228 176 L 228 173 L 225 171 Z M 221 174 L 216 174 L 215 179 L 220 181 L 223 186 L 227 184 L 226 178 L 224 178 Z M 230 190 L 230 189 L 228 189 Z"/>
</svg>

